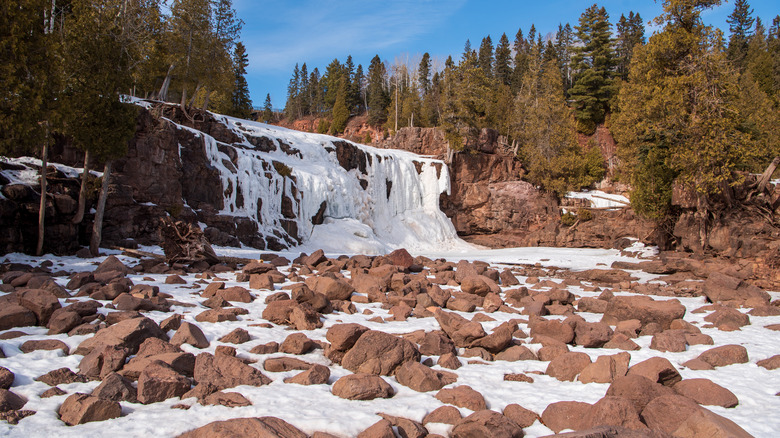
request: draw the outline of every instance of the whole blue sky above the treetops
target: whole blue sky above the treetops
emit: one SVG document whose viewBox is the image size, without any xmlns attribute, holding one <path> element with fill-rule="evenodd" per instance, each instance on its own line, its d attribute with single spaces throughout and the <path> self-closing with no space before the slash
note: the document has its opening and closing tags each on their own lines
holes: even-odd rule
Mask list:
<svg viewBox="0 0 780 438">
<path fill-rule="evenodd" d="M 780 14 L 777 0 L 751 0 L 754 17 L 765 25 Z M 367 67 L 374 55 L 393 62 L 396 58 L 419 60 L 428 52 L 435 59 L 460 55 L 466 39 L 474 48 L 490 35 L 495 45 L 502 33 L 510 42 L 518 28 L 528 33 L 531 24 L 545 35 L 559 23 L 576 25 L 593 1 L 580 0 L 234 0 L 244 21 L 241 39 L 249 53 L 247 81 L 255 106 L 266 93 L 274 108 L 283 108 L 287 84 L 296 63 L 309 71 L 324 71 L 334 58 L 347 55 Z M 621 14 L 639 12 L 647 23 L 661 12 L 661 2 L 604 0 L 614 25 Z M 732 1 L 706 11 L 708 24 L 724 29 Z M 614 31 L 614 29 L 613 29 Z M 650 32 L 647 32 L 649 36 Z"/>
</svg>

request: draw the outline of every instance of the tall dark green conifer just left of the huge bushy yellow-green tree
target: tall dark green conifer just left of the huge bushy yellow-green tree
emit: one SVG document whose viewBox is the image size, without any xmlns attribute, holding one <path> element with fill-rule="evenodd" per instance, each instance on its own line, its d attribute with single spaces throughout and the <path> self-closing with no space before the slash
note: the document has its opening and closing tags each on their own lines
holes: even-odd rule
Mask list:
<svg viewBox="0 0 780 438">
<path fill-rule="evenodd" d="M 613 85 L 615 57 L 609 15 L 602 7 L 593 5 L 580 16 L 576 26 L 581 45 L 572 58 L 574 85 L 569 94 L 574 101 L 578 130 L 592 133 L 604 122 L 609 101 L 615 94 Z"/>
</svg>

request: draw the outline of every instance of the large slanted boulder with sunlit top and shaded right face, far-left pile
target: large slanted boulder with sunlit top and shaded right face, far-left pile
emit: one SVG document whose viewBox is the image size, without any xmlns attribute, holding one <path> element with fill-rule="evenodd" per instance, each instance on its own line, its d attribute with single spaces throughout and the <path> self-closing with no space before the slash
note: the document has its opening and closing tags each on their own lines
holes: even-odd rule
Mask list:
<svg viewBox="0 0 780 438">
<path fill-rule="evenodd" d="M 95 336 L 83 341 L 73 353 L 87 354 L 99 345 L 108 345 L 126 348 L 130 354 L 135 354 L 141 343 L 152 337 L 168 340 L 168 336 L 151 319 L 132 318 L 101 329 Z"/>
</svg>

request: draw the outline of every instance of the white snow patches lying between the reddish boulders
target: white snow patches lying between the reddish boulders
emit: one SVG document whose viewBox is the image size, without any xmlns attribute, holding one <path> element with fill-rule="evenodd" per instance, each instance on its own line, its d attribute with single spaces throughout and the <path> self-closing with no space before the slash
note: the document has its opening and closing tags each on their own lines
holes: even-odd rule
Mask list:
<svg viewBox="0 0 780 438">
<path fill-rule="evenodd" d="M 337 238 L 338 236 L 334 236 Z M 149 249 L 149 248 L 147 248 Z M 303 248 L 304 250 L 308 248 Z M 640 246 L 633 248 L 638 256 L 647 256 L 649 252 L 642 253 Z M 283 255 L 295 257 L 298 255 L 298 248 L 293 251 L 287 251 Z M 159 249 L 156 249 L 159 252 Z M 258 257 L 259 253 L 248 249 L 226 249 L 218 248 L 222 255 L 233 255 L 242 257 Z M 543 266 L 558 266 L 571 269 L 588 269 L 605 267 L 617 260 L 622 261 L 640 261 L 640 258 L 627 257 L 621 255 L 615 250 L 593 250 L 593 249 L 555 249 L 555 248 L 516 248 L 503 250 L 480 250 L 480 249 L 442 249 L 432 248 L 432 251 L 416 251 L 418 254 L 424 254 L 428 257 L 444 257 L 452 261 L 460 259 L 485 260 L 494 264 L 511 266 L 512 264 L 534 264 L 539 263 Z M 331 253 L 330 255 L 338 255 Z M 72 257 L 54 257 L 47 255 L 44 257 L 28 257 L 21 254 L 11 254 L 0 258 L 16 263 L 28 263 L 37 265 L 42 261 L 51 260 L 54 263 L 52 270 L 66 271 L 89 271 L 94 269 L 95 264 L 102 260 L 96 259 L 77 259 Z M 136 261 L 132 258 L 120 256 L 126 264 L 132 265 Z M 281 268 L 286 273 L 288 268 Z M 634 271 L 632 271 L 633 273 Z M 227 286 L 238 285 L 235 282 L 235 273 L 220 274 L 227 280 Z M 172 312 L 184 315 L 184 320 L 194 321 L 194 315 L 204 310 L 200 306 L 202 298 L 193 294 L 193 284 L 196 282 L 194 275 L 183 276 L 187 281 L 185 285 L 166 285 L 164 284 L 165 275 L 143 274 L 131 275 L 129 278 L 136 284 L 155 284 L 160 288 L 160 292 L 171 294 L 174 300 L 182 303 L 194 304 L 197 307 L 174 307 Z M 645 274 L 643 281 L 653 279 L 654 276 Z M 522 282 L 526 278 L 518 276 Z M 544 278 L 542 279 L 544 280 Z M 65 283 L 67 278 L 58 279 L 60 283 Z M 556 280 L 560 281 L 560 280 Z M 243 283 L 245 285 L 245 283 Z M 276 285 L 278 289 L 282 285 Z M 199 290 L 195 288 L 195 291 Z M 569 286 L 568 289 L 578 296 L 597 296 L 598 292 L 587 292 L 579 286 Z M 215 348 L 220 345 L 217 341 L 221 336 L 229 333 L 235 328 L 242 327 L 249 331 L 252 340 L 240 345 L 235 345 L 240 357 L 256 360 L 255 367 L 262 369 L 262 363 L 267 357 L 283 356 L 283 354 L 256 355 L 248 351 L 255 345 L 265 344 L 267 342 L 280 342 L 290 333 L 289 329 L 283 326 L 274 326 L 273 328 L 261 328 L 252 326 L 253 323 L 264 322 L 261 319 L 261 313 L 265 308 L 264 297 L 271 294 L 271 291 L 252 291 L 258 299 L 249 304 L 237 303 L 238 306 L 246 308 L 249 313 L 240 316 L 235 322 L 222 323 L 200 323 L 197 325 L 203 329 L 206 337 L 211 341 L 211 346 L 199 350 L 189 345 L 184 345 L 185 351 L 198 354 L 203 351 L 213 353 Z M 622 294 L 623 292 L 616 292 Z M 773 299 L 780 297 L 780 294 L 772 293 Z M 658 298 L 657 299 L 666 299 Z M 704 298 L 682 298 L 680 301 L 686 306 L 687 313 L 685 319 L 699 327 L 703 326 L 704 314 L 695 314 L 692 311 L 705 304 Z M 64 304 L 64 300 L 63 300 Z M 381 308 L 379 304 L 358 304 L 355 314 L 334 313 L 324 316 L 324 326 L 321 329 L 305 332 L 308 337 L 315 340 L 325 340 L 327 329 L 336 323 L 356 322 L 365 325 L 371 329 L 381 330 L 388 333 L 409 333 L 415 330 L 434 330 L 439 326 L 436 320 L 429 318 L 409 318 L 402 322 L 371 322 L 368 319 L 376 316 L 389 316 L 387 310 Z M 370 310 L 372 314 L 365 315 L 364 311 Z M 101 312 L 108 312 L 107 309 L 101 309 Z M 588 321 L 598 321 L 599 314 L 579 313 Z M 464 314 L 471 317 L 471 314 Z M 149 312 L 147 314 L 151 319 L 160 322 L 168 316 L 161 312 Z M 483 323 L 487 332 L 504 321 L 517 318 L 519 315 L 496 312 L 490 314 L 495 321 Z M 554 317 L 552 317 L 554 318 Z M 732 409 L 709 406 L 708 409 L 723 415 L 742 426 L 749 433 L 756 437 L 777 436 L 780 430 L 780 416 L 777 415 L 780 409 L 780 398 L 775 394 L 780 391 L 780 375 L 777 370 L 768 371 L 756 365 L 756 362 L 778 354 L 780 352 L 780 337 L 775 333 L 764 328 L 769 324 L 780 323 L 780 317 L 754 317 L 751 316 L 751 325 L 743 327 L 742 330 L 734 332 L 723 332 L 717 329 L 701 328 L 702 332 L 710 335 L 715 345 L 740 344 L 747 348 L 750 362 L 746 364 L 730 365 L 721 367 L 715 371 L 694 371 L 685 369 L 681 366 L 687 360 L 697 357 L 702 351 L 711 348 L 707 345 L 691 346 L 682 353 L 662 353 L 649 349 L 650 337 L 644 336 L 635 341 L 642 347 L 641 350 L 631 351 L 631 363 L 637 363 L 644 359 L 662 356 L 668 358 L 677 366 L 684 378 L 707 378 L 715 383 L 731 390 L 738 398 L 739 405 Z M 521 323 L 520 328 L 528 333 L 526 324 Z M 420 393 L 400 385 L 393 377 L 384 377 L 384 379 L 395 389 L 396 395 L 389 399 L 377 399 L 373 401 L 349 401 L 338 398 L 330 393 L 330 385 L 312 385 L 300 386 L 296 384 L 283 383 L 285 377 L 290 377 L 298 371 L 271 373 L 263 371 L 273 382 L 270 385 L 261 387 L 242 386 L 226 391 L 240 392 L 252 402 L 252 406 L 227 408 L 223 406 L 201 406 L 195 399 L 179 400 L 178 398 L 169 399 L 161 403 L 151 405 L 133 404 L 122 402 L 122 417 L 104 422 L 88 423 L 75 427 L 68 427 L 62 423 L 56 414 L 58 406 L 67 396 L 56 396 L 48 399 L 39 397 L 40 393 L 49 387 L 41 382 L 36 382 L 33 378 L 42 375 L 48 371 L 69 367 L 77 370 L 81 356 L 65 356 L 60 351 L 36 351 L 23 354 L 18 346 L 24 341 L 30 339 L 42 339 L 46 330 L 40 327 L 27 327 L 23 329 L 27 336 L 16 339 L 2 341 L 2 348 L 8 356 L 6 359 L 0 359 L 0 366 L 4 366 L 16 374 L 16 382 L 11 388 L 14 392 L 26 397 L 28 403 L 25 409 L 37 411 L 35 415 L 23 419 L 18 425 L 12 426 L 5 422 L 0 423 L 0 435 L 9 437 L 31 437 L 31 436 L 58 436 L 58 437 L 78 437 L 83 436 L 111 436 L 119 437 L 137 437 L 137 436 L 157 436 L 172 437 L 184 431 L 193 429 L 216 420 L 224 420 L 238 417 L 257 417 L 257 416 L 275 416 L 282 418 L 307 433 L 315 431 L 324 431 L 337 436 L 355 436 L 360 431 L 372 425 L 379 420 L 376 415 L 383 412 L 400 417 L 411 418 L 420 421 L 433 409 L 441 406 L 441 402 L 434 398 L 435 391 Z M 172 333 L 171 333 L 172 334 Z M 71 349 L 86 339 L 86 336 L 56 335 L 51 338 L 59 339 L 65 342 Z M 538 344 L 526 344 L 531 350 L 536 351 L 541 346 Z M 572 346 L 572 351 L 581 351 L 589 354 L 593 359 L 599 355 L 615 354 L 616 350 L 606 349 L 586 349 Z M 350 372 L 338 365 L 332 365 L 324 356 L 322 350 L 315 350 L 306 354 L 300 359 L 307 362 L 320 363 L 328 365 L 331 369 L 331 378 L 329 383 Z M 464 359 L 464 365 L 455 371 L 458 375 L 457 383 L 452 386 L 469 385 L 482 393 L 488 403 L 488 407 L 493 410 L 501 411 L 506 405 L 517 403 L 523 407 L 533 410 L 539 414 L 550 403 L 564 400 L 576 400 L 588 403 L 595 403 L 601 399 L 608 386 L 607 384 L 582 384 L 579 382 L 561 382 L 545 375 L 530 374 L 533 376 L 534 383 L 506 382 L 503 376 L 506 373 L 533 373 L 543 372 L 548 362 L 541 361 L 518 361 L 506 362 L 495 361 L 489 364 L 467 364 Z M 438 368 L 438 366 L 434 367 Z M 66 392 L 90 392 L 99 382 L 74 383 L 61 385 L 61 389 Z M 171 406 L 179 403 L 191 405 L 189 410 L 171 409 Z M 468 409 L 460 408 L 465 416 L 470 413 Z M 429 424 L 428 430 L 431 433 L 440 433 L 446 435 L 449 426 L 443 424 Z M 552 431 L 536 422 L 525 429 L 526 436 L 537 437 L 551 434 Z"/>
</svg>

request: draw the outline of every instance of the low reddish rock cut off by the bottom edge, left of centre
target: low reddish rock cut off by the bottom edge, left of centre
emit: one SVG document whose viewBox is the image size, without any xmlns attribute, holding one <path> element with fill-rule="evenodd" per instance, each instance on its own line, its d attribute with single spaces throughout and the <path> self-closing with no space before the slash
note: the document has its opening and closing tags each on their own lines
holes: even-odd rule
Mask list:
<svg viewBox="0 0 780 438">
<path fill-rule="evenodd" d="M 276 417 L 234 418 L 214 421 L 178 438 L 307 438 L 300 429 Z"/>
</svg>

